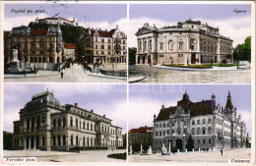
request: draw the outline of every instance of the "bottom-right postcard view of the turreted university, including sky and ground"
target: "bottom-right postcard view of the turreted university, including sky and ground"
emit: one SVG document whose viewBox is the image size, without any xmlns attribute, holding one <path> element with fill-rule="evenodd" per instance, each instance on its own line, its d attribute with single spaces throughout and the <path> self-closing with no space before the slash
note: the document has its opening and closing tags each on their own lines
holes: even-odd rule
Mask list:
<svg viewBox="0 0 256 166">
<path fill-rule="evenodd" d="M 250 163 L 250 84 L 130 84 L 129 162 Z"/>
</svg>

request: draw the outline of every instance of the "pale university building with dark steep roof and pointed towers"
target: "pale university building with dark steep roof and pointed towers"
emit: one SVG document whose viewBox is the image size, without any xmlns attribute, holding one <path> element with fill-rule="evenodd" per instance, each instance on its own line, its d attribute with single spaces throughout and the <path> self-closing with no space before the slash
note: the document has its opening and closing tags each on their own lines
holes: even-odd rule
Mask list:
<svg viewBox="0 0 256 166">
<path fill-rule="evenodd" d="M 154 116 L 153 149 L 159 151 L 162 144 L 185 151 L 189 137 L 194 150 L 245 147 L 246 126 L 237 115 L 228 91 L 225 107 L 211 100 L 193 102 L 187 92 L 176 106 L 162 105 L 158 117 Z"/>
</svg>

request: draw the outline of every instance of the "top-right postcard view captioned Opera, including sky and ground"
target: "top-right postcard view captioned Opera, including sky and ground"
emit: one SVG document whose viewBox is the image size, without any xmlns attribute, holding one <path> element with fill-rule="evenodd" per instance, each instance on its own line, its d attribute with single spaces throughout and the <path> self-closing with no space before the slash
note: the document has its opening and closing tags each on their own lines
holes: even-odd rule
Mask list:
<svg viewBox="0 0 256 166">
<path fill-rule="evenodd" d="M 129 83 L 251 83 L 251 4 L 131 4 Z"/>
</svg>

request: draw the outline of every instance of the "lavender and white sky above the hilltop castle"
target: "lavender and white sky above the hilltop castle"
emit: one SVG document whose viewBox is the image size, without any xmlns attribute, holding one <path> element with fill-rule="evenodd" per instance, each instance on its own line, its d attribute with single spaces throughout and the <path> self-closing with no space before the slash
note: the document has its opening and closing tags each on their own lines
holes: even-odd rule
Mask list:
<svg viewBox="0 0 256 166">
<path fill-rule="evenodd" d="M 126 32 L 127 12 L 125 4 L 70 4 L 69 2 L 41 4 L 5 4 L 4 29 L 28 26 L 39 19 L 47 17 L 61 17 L 68 20 L 77 19 L 79 26 L 84 28 L 112 29 L 118 25 L 119 29 Z M 25 10 L 25 13 L 20 13 Z M 31 10 L 32 13 L 28 13 Z M 42 11 L 38 13 L 36 11 Z M 89 22 L 90 21 L 90 22 Z"/>
</svg>

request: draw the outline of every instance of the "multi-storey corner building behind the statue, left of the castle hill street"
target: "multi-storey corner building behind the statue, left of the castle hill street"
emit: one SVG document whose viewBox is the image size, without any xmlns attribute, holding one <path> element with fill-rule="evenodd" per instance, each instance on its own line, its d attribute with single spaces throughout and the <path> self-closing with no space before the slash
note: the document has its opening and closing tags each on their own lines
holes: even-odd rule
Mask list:
<svg viewBox="0 0 256 166">
<path fill-rule="evenodd" d="M 12 60 L 13 49 L 18 49 L 18 59 L 28 63 L 61 63 L 63 61 L 62 31 L 57 28 L 13 28 L 4 36 L 5 64 Z"/>
</svg>

